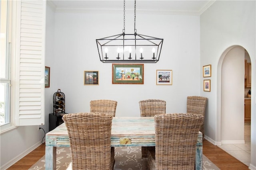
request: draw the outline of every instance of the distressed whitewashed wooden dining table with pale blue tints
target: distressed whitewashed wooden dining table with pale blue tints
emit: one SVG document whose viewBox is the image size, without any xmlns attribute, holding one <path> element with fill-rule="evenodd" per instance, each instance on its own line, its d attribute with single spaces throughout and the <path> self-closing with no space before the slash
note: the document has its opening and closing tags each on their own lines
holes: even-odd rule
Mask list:
<svg viewBox="0 0 256 170">
<path fill-rule="evenodd" d="M 111 127 L 111 147 L 155 146 L 154 117 L 113 117 Z M 46 133 L 45 168 L 56 169 L 56 148 L 70 147 L 68 131 L 62 123 Z M 202 133 L 198 132 L 196 143 L 196 170 L 202 170 Z"/>
</svg>

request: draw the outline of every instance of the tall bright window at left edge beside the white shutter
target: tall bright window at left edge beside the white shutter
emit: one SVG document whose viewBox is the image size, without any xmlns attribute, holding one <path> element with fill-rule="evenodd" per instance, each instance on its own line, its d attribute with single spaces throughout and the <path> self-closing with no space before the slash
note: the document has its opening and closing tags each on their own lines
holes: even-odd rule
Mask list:
<svg viewBox="0 0 256 170">
<path fill-rule="evenodd" d="M 0 1 L 0 125 L 10 123 L 10 58 L 8 1 Z"/>
</svg>

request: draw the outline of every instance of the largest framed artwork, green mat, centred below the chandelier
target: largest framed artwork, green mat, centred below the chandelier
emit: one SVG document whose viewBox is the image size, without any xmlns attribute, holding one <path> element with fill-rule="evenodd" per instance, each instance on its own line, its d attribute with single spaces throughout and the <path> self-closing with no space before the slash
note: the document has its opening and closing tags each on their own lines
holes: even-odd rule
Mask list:
<svg viewBox="0 0 256 170">
<path fill-rule="evenodd" d="M 144 84 L 144 64 L 112 64 L 112 84 Z"/>
</svg>

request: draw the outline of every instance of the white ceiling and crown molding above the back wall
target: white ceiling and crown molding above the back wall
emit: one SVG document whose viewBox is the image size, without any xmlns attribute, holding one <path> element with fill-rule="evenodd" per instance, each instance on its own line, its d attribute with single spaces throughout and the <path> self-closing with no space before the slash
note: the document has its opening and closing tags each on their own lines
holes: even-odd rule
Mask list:
<svg viewBox="0 0 256 170">
<path fill-rule="evenodd" d="M 48 0 L 58 11 L 123 10 L 123 0 Z M 215 0 L 136 0 L 136 11 L 176 14 L 202 14 Z M 126 10 L 134 10 L 134 0 L 125 1 Z"/>
</svg>

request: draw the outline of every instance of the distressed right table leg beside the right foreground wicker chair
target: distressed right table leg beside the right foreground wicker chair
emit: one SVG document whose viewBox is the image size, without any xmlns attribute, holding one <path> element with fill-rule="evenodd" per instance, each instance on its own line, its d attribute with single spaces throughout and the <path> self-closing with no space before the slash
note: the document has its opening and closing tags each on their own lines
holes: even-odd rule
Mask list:
<svg viewBox="0 0 256 170">
<path fill-rule="evenodd" d="M 202 134 L 198 135 L 196 144 L 196 170 L 203 169 L 203 137 Z"/>
</svg>

